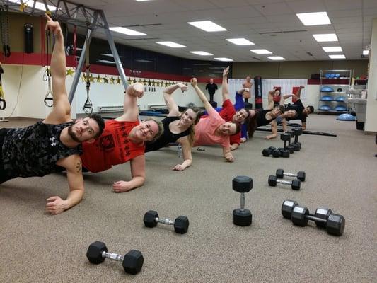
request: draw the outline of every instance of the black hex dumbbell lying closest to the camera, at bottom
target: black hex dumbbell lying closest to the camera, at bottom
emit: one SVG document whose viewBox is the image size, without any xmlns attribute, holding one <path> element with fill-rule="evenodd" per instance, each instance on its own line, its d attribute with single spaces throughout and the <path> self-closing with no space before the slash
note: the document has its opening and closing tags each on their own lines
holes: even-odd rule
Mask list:
<svg viewBox="0 0 377 283">
<path fill-rule="evenodd" d="M 124 271 L 132 275 L 136 275 L 144 263 L 144 257 L 139 250 L 130 250 L 124 256 L 117 253 L 108 253 L 105 243 L 100 241 L 91 243 L 86 252 L 86 258 L 88 258 L 89 262 L 96 265 L 102 263 L 105 258 L 121 261 Z"/>
</svg>

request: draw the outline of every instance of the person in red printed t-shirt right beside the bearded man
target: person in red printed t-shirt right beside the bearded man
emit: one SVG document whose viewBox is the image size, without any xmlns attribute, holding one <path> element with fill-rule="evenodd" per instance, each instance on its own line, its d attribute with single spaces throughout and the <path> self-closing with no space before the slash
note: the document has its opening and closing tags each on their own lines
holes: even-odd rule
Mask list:
<svg viewBox="0 0 377 283">
<path fill-rule="evenodd" d="M 114 182 L 115 192 L 127 192 L 144 184 L 144 141 L 157 139 L 163 131 L 161 122 L 151 118 L 139 122 L 137 98 L 143 94 L 141 83 L 130 85 L 124 96 L 123 115 L 106 121 L 103 134 L 95 142 L 83 143 L 81 160 L 84 171 L 101 172 L 131 161 L 132 180 Z"/>
</svg>

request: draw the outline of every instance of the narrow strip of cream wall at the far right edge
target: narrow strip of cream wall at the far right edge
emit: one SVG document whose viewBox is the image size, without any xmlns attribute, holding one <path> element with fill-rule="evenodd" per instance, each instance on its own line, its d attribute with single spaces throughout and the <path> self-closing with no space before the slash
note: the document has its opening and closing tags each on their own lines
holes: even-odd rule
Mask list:
<svg viewBox="0 0 377 283">
<path fill-rule="evenodd" d="M 368 99 L 364 130 L 377 132 L 377 18 L 373 19 L 371 50 L 369 51 Z"/>
</svg>

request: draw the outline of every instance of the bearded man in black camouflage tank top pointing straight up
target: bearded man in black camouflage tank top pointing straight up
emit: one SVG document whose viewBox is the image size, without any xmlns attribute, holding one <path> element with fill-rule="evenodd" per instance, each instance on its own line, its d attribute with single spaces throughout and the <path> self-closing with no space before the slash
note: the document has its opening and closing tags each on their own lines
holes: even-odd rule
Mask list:
<svg viewBox="0 0 377 283">
<path fill-rule="evenodd" d="M 54 108 L 46 119 L 29 127 L 0 129 L 0 183 L 16 177 L 33 177 L 66 170 L 69 194 L 66 200 L 47 198 L 46 210 L 59 214 L 78 204 L 84 192 L 81 172 L 81 142 L 93 142 L 104 128 L 102 117 L 71 119 L 66 93 L 66 54 L 62 29 L 46 15 L 46 30 L 55 37 L 51 57 Z"/>
</svg>

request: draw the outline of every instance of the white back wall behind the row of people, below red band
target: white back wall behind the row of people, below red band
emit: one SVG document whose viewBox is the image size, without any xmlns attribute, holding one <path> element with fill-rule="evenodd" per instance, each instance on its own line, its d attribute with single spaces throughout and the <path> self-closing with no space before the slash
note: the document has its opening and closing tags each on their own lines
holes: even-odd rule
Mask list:
<svg viewBox="0 0 377 283">
<path fill-rule="evenodd" d="M 30 117 L 44 119 L 52 108 L 47 108 L 43 99 L 48 90 L 47 81 L 43 81 L 44 67 L 40 66 L 18 66 L 2 64 L 4 74 L 2 76 L 3 89 L 6 96 L 6 109 L 0 110 L 0 117 L 9 117 L 13 108 L 11 117 Z M 93 74 L 97 76 L 97 74 Z M 103 75 L 100 75 L 103 76 Z M 66 77 L 66 88 L 69 91 L 74 76 Z M 218 83 L 219 89 L 216 91 L 214 100 L 221 106 L 221 84 Z M 205 83 L 199 83 L 199 88 L 206 94 Z M 197 97 L 191 86 L 185 93 L 179 90 L 175 91 L 174 99 L 180 106 L 187 103 L 195 103 L 202 106 L 202 102 Z M 139 100 L 141 110 L 146 110 L 149 104 L 163 104 L 162 96 L 163 87 L 156 87 L 156 92 L 146 91 L 144 97 Z M 267 105 L 267 92 L 263 91 L 263 106 Z M 18 97 L 18 103 L 17 103 Z M 313 105 L 318 109 L 319 86 L 308 85 L 303 91 L 302 96 L 304 105 Z M 123 105 L 124 89 L 122 84 L 105 84 L 91 83 L 90 99 L 93 103 L 94 112 L 97 111 L 98 105 Z M 76 88 L 74 101 L 72 103 L 71 114 L 76 117 L 77 113 L 83 113 L 83 104 L 86 100 L 86 83 L 79 81 Z M 234 103 L 234 93 L 231 93 L 231 100 Z M 255 103 L 254 98 L 250 99 L 250 103 Z"/>
</svg>

